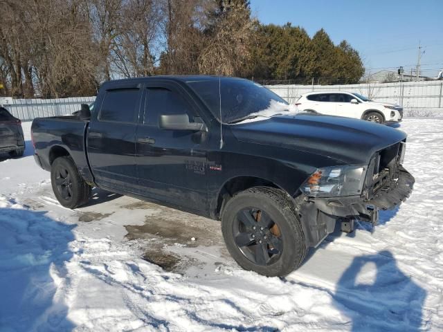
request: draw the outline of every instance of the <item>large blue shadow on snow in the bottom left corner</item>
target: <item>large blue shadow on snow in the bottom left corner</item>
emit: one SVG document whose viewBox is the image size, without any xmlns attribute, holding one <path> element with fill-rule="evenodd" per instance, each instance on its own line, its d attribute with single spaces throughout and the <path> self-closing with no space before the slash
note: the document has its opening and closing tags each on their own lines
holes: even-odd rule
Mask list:
<svg viewBox="0 0 443 332">
<path fill-rule="evenodd" d="M 66 275 L 72 229 L 46 212 L 0 208 L 0 330 L 71 331 L 53 276 Z M 63 277 L 62 277 L 63 278 Z"/>
</svg>

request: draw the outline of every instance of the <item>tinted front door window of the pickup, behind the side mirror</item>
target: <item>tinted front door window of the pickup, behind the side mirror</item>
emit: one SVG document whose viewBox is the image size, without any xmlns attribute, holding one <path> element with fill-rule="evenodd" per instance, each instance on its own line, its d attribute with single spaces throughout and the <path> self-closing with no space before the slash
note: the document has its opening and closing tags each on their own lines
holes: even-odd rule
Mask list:
<svg viewBox="0 0 443 332">
<path fill-rule="evenodd" d="M 157 126 L 161 115 L 184 113 L 192 116 L 188 103 L 178 93 L 165 88 L 147 89 L 143 123 Z M 192 121 L 192 118 L 190 120 Z"/>
</svg>

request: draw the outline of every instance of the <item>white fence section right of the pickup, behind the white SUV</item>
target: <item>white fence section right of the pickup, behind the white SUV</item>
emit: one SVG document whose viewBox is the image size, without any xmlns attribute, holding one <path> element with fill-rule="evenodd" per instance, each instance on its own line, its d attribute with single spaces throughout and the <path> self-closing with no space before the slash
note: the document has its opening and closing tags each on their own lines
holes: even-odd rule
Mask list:
<svg viewBox="0 0 443 332">
<path fill-rule="evenodd" d="M 443 81 L 367 83 L 347 85 L 269 85 L 269 89 L 288 102 L 295 102 L 302 93 L 311 91 L 349 91 L 368 96 L 371 100 L 402 106 L 406 114 L 424 110 L 443 111 Z"/>
</svg>

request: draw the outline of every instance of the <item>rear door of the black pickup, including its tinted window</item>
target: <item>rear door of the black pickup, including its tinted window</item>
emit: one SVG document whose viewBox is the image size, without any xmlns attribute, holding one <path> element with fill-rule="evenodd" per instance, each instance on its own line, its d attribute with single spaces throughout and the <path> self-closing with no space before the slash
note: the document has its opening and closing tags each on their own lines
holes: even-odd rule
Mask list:
<svg viewBox="0 0 443 332">
<path fill-rule="evenodd" d="M 112 86 L 104 92 L 97 118 L 87 131 L 87 151 L 98 185 L 134 192 L 137 183 L 136 128 L 142 89 Z"/>
</svg>

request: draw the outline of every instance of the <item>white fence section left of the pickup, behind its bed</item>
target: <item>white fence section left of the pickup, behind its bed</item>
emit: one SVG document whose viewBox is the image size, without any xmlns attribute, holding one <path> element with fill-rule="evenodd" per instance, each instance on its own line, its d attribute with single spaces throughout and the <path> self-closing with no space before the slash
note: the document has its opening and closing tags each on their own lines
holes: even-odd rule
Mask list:
<svg viewBox="0 0 443 332">
<path fill-rule="evenodd" d="M 47 116 L 64 116 L 80 109 L 81 104 L 91 104 L 96 97 L 59 99 L 12 99 L 0 98 L 1 106 L 22 121 Z"/>
</svg>

